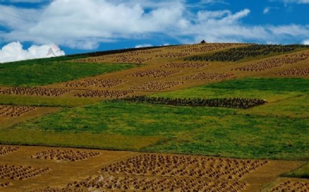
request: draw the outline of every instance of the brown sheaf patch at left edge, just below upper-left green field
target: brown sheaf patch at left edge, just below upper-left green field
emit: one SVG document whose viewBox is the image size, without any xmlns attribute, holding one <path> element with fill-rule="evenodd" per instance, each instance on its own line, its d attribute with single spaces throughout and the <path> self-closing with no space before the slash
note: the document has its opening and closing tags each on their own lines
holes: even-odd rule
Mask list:
<svg viewBox="0 0 309 192">
<path fill-rule="evenodd" d="M 15 87 L 0 90 L 2 94 L 15 94 L 15 95 L 40 95 L 40 96 L 54 96 L 58 97 L 65 93 L 70 93 L 71 90 L 65 88 L 43 88 L 43 87 Z"/>
</svg>

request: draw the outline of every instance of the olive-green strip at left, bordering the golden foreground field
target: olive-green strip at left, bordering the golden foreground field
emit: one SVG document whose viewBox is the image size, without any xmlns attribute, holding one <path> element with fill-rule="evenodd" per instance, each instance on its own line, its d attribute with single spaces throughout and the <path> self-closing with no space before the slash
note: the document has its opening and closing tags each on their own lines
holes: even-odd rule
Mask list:
<svg viewBox="0 0 309 192">
<path fill-rule="evenodd" d="M 91 132 L 50 132 L 44 130 L 0 130 L 1 144 L 87 147 L 94 149 L 139 150 L 163 141 L 163 136 L 131 136 Z"/>
</svg>

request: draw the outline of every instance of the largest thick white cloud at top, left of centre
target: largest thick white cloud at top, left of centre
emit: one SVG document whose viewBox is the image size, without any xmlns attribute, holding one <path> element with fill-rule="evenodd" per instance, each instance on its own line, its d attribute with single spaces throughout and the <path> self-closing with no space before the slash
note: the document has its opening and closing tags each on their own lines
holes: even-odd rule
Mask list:
<svg viewBox="0 0 309 192">
<path fill-rule="evenodd" d="M 73 48 L 93 49 L 100 42 L 141 38 L 148 33 L 172 31 L 175 26 L 186 23 L 182 15 L 185 7 L 181 1 L 166 1 L 157 6 L 146 12 L 140 3 L 55 0 L 46 8 L 29 10 L 31 13 L 28 14 L 28 10 L 2 5 L 0 18 L 3 21 L 0 20 L 0 23 L 11 29 L 4 36 L 6 40 L 40 44 L 54 42 Z M 27 15 L 31 19 L 27 19 Z"/>
</svg>

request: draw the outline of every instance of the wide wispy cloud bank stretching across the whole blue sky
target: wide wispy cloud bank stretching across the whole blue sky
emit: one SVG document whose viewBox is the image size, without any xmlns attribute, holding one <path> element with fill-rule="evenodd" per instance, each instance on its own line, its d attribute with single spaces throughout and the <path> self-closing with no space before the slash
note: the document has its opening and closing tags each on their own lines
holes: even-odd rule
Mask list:
<svg viewBox="0 0 309 192">
<path fill-rule="evenodd" d="M 188 6 L 177 0 L 54 0 L 35 10 L 0 5 L 0 25 L 8 29 L 0 32 L 0 40 L 95 49 L 100 43 L 160 35 L 179 43 L 299 43 L 309 38 L 308 25 L 246 25 L 242 19 L 249 9 L 190 12 Z"/>
</svg>

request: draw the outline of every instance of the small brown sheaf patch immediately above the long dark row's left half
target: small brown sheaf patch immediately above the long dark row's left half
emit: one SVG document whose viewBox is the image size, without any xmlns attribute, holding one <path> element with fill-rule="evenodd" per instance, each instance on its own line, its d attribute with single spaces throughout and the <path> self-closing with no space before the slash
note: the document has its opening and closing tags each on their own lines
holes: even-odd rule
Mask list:
<svg viewBox="0 0 309 192">
<path fill-rule="evenodd" d="M 145 84 L 140 84 L 137 86 L 131 87 L 131 89 L 139 90 L 163 90 L 166 88 L 172 88 L 183 84 L 183 82 L 147 82 Z"/>
</svg>

